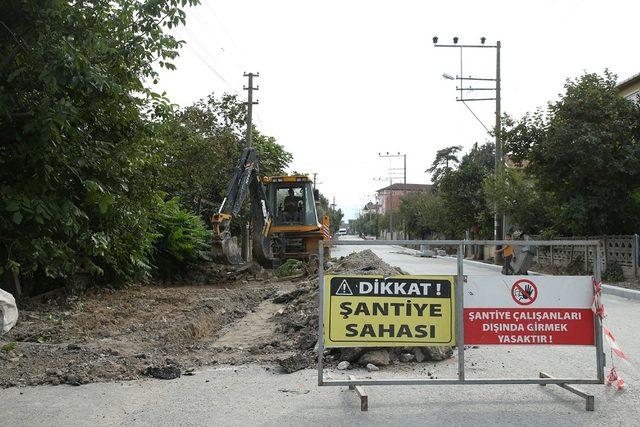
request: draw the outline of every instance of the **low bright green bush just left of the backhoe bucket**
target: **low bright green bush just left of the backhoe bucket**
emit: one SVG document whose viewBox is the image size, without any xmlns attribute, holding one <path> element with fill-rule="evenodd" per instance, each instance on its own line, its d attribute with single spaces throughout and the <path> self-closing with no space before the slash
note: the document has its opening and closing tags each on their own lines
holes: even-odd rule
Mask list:
<svg viewBox="0 0 640 427">
<path fill-rule="evenodd" d="M 157 196 L 156 201 L 153 263 L 158 273 L 177 276 L 190 266 L 211 260 L 211 232 L 200 217 L 182 209 L 177 197 L 165 201 Z"/>
</svg>

